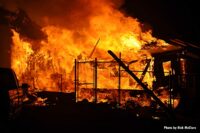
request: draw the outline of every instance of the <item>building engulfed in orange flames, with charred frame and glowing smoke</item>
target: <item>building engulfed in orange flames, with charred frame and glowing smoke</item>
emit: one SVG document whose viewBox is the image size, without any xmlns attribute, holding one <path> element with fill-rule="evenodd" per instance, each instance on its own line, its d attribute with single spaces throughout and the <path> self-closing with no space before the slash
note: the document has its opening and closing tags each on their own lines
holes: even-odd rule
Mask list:
<svg viewBox="0 0 200 133">
<path fill-rule="evenodd" d="M 55 1 L 59 8 L 52 6 Z M 190 59 L 199 62 L 199 56 L 188 52 L 185 42 L 154 37 L 149 26 L 118 10 L 120 0 L 55 1 L 44 1 L 49 4 L 38 10 L 42 3 L 18 3 L 42 27 L 22 10 L 1 11 L 13 34 L 6 61 L 20 84 L 28 83 L 36 92 L 74 92 L 76 101 L 122 107 L 157 102 L 174 109 L 182 98 L 192 106 L 188 101 L 198 96 L 199 75 L 191 73 L 199 71 L 195 67 L 191 72 L 195 64 Z"/>
</svg>

